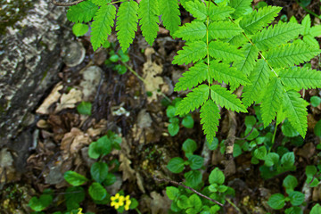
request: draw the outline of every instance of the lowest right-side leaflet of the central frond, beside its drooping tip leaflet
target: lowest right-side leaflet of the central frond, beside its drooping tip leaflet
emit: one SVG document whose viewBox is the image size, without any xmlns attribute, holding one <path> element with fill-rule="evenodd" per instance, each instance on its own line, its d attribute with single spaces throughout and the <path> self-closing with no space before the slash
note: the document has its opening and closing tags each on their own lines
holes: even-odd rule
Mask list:
<svg viewBox="0 0 321 214">
<path fill-rule="evenodd" d="M 246 108 L 241 101 L 237 99 L 236 95 L 227 91 L 225 87 L 219 85 L 210 86 L 210 96 L 215 103 L 228 110 L 247 112 Z"/>
</svg>

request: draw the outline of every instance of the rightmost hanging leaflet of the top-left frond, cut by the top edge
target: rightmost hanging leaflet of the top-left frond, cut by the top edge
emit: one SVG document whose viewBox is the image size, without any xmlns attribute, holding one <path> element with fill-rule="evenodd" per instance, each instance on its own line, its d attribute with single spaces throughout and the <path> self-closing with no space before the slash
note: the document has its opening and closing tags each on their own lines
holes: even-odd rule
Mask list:
<svg viewBox="0 0 321 214">
<path fill-rule="evenodd" d="M 159 0 L 161 20 L 170 35 L 174 35 L 180 25 L 178 0 Z"/>
</svg>

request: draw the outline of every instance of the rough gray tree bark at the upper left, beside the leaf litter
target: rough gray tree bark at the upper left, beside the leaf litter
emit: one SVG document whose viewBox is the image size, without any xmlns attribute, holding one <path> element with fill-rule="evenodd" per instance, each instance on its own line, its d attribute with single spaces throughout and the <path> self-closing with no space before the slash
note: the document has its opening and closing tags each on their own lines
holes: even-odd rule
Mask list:
<svg viewBox="0 0 321 214">
<path fill-rule="evenodd" d="M 21 136 L 34 121 L 29 115 L 62 67 L 62 45 L 71 37 L 70 26 L 63 26 L 69 24 L 66 8 L 34 0 L 0 35 L 0 147 L 27 140 Z"/>
</svg>

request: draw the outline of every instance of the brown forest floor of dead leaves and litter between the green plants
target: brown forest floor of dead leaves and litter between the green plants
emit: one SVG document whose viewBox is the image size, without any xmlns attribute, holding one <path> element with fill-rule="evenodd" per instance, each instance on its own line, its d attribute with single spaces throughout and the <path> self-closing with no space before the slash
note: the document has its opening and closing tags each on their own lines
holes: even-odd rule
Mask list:
<svg viewBox="0 0 321 214">
<path fill-rule="evenodd" d="M 279 17 L 285 15 L 290 19 L 294 15 L 300 22 L 307 14 L 295 1 L 267 3 L 284 7 Z M 320 2 L 314 0 L 308 8 L 319 14 Z M 183 23 L 191 21 L 187 13 L 183 13 L 183 17 Z M 108 192 L 114 195 L 123 190 L 135 197 L 139 202 L 138 210 L 142 213 L 168 213 L 171 201 L 165 189 L 170 184 L 160 183 L 153 177 L 183 181 L 181 174 L 171 173 L 166 166 L 171 158 L 184 157 L 181 146 L 187 138 L 197 143 L 196 153 L 205 157 L 204 177 L 215 167 L 226 173 L 226 185 L 235 189 L 235 197 L 230 200 L 243 213 L 277 213 L 268 206 L 268 197 L 272 193 L 284 193 L 282 182 L 289 174 L 296 176 L 300 188 L 303 188 L 306 166 L 319 160 L 316 146 L 320 139 L 314 135 L 313 128 L 321 118 L 320 106 L 309 106 L 309 131 L 300 146 L 292 144 L 292 140 L 284 140 L 281 129 L 276 130 L 276 144 L 284 145 L 296 155 L 296 171 L 264 179 L 260 176 L 259 165 L 251 164 L 251 152 L 242 152 L 234 159 L 235 170 L 226 172 L 224 154 L 219 149 L 210 151 L 205 144 L 199 112 L 192 114 L 193 128 L 180 125 L 176 136 L 169 135 L 167 106 L 175 98 L 184 97 L 184 92 L 174 92 L 173 88 L 182 72 L 188 69 L 188 66 L 174 66 L 171 62 L 184 42 L 169 37 L 165 29 L 161 29 L 152 47 L 137 35 L 129 49 L 128 62 L 106 64 L 111 55 L 119 54 L 115 35 L 111 35 L 110 41 L 109 48 L 101 48 L 94 53 L 89 37 L 75 37 L 74 42 L 85 47 L 85 58 L 77 66 L 66 65 L 62 68 L 58 73 L 61 81 L 44 92 L 44 100 L 35 110 L 39 117 L 34 131 L 35 141 L 29 149 L 31 155 L 24 173 L 10 166 L 5 172 L 3 170 L 0 213 L 30 213 L 30 198 L 40 195 L 47 188 L 51 188 L 55 196 L 45 213 L 64 210 L 63 193 L 70 185 L 63 179 L 63 173 L 74 170 L 90 177 L 90 166 L 94 161 L 88 157 L 88 145 L 108 130 L 122 139 L 121 149 L 113 150 L 103 159 L 111 163 L 110 169 L 117 179 L 108 187 Z M 115 69 L 117 64 L 131 69 L 120 75 Z M 320 68 L 317 59 L 312 62 L 312 68 Z M 316 89 L 308 90 L 304 92 L 304 98 L 309 101 L 312 95 L 317 94 Z M 90 115 L 79 114 L 77 106 L 81 102 L 92 104 Z M 255 110 L 251 107 L 249 114 L 235 116 L 235 137 L 244 137 L 244 119 L 247 115 L 255 115 Z M 228 111 L 221 111 L 218 142 L 226 139 L 231 117 Z M 262 130 L 260 135 L 266 133 L 267 130 Z M 6 151 L 2 151 L 2 156 L 7 157 L 9 162 L 12 160 Z M 309 202 L 320 202 L 319 187 L 305 191 Z M 82 202 L 81 207 L 95 213 L 116 213 L 110 206 L 96 205 L 90 200 Z M 305 209 L 310 209 L 309 203 Z M 228 202 L 222 210 L 222 213 L 239 212 Z"/>
</svg>

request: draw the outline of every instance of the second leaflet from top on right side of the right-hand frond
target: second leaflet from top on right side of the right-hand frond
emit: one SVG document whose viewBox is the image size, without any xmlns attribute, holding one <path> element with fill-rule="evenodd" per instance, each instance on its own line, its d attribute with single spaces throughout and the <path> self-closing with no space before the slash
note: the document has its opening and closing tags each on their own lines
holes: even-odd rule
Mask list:
<svg viewBox="0 0 321 214">
<path fill-rule="evenodd" d="M 279 22 L 275 26 L 270 26 L 255 34 L 252 41 L 259 50 L 264 51 L 298 37 L 302 29 L 300 24 Z"/>
</svg>

